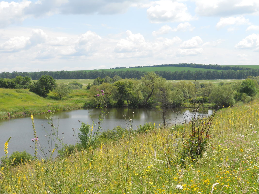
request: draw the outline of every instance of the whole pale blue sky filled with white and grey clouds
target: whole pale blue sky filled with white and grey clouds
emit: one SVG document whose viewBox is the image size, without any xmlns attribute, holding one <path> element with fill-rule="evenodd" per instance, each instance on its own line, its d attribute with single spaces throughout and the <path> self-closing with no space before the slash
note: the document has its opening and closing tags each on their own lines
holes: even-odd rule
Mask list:
<svg viewBox="0 0 259 194">
<path fill-rule="evenodd" d="M 0 0 L 0 72 L 258 61 L 258 0 Z"/>
</svg>

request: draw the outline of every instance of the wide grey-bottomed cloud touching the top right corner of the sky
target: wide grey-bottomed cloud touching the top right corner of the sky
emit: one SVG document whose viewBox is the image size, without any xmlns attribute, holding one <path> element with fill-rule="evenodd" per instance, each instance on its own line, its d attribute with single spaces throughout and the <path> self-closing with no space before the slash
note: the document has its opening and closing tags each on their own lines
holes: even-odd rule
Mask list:
<svg viewBox="0 0 259 194">
<path fill-rule="evenodd" d="M 200 16 L 233 16 L 258 13 L 258 0 L 195 0 Z"/>
</svg>

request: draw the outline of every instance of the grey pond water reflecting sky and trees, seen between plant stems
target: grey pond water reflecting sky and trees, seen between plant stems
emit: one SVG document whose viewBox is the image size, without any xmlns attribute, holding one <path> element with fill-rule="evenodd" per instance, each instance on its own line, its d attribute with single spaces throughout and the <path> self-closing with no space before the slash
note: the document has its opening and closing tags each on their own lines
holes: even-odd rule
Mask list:
<svg viewBox="0 0 259 194">
<path fill-rule="evenodd" d="M 162 122 L 162 117 L 160 113 L 157 113 L 153 109 L 130 109 L 130 108 L 109 108 L 106 110 L 109 112 L 104 118 L 102 124 L 102 131 L 107 129 L 113 129 L 116 126 L 121 126 L 126 128 L 125 120 L 123 115 L 126 115 L 127 122 L 128 118 L 133 119 L 133 129 L 136 126 L 144 125 L 147 122 L 156 123 L 157 125 Z M 91 116 L 90 116 L 90 114 Z M 132 112 L 134 112 L 134 118 L 132 117 Z M 208 110 L 206 113 L 199 113 L 199 115 L 211 115 L 212 110 Z M 62 111 L 56 112 L 53 115 L 53 124 L 58 127 L 60 139 L 63 134 L 63 142 L 65 144 L 75 144 L 77 142 L 77 128 L 80 128 L 81 122 L 92 124 L 92 119 L 95 123 L 98 123 L 99 112 L 97 109 L 91 110 L 73 110 L 73 111 Z M 92 119 L 91 119 L 92 117 Z M 189 110 L 174 109 L 170 112 L 167 123 L 175 124 L 182 122 L 189 122 L 192 117 L 192 112 Z M 48 141 L 45 135 L 51 133 L 51 126 L 47 123 L 46 115 L 34 115 L 34 123 L 36 128 L 37 136 L 42 147 L 48 147 Z M 73 131 L 75 128 L 75 131 Z M 11 154 L 14 151 L 23 151 L 33 154 L 33 142 L 31 141 L 33 137 L 32 122 L 30 117 L 26 118 L 16 118 L 11 120 L 0 121 L 0 157 L 4 155 L 4 143 L 9 138 L 12 137 L 8 144 L 8 153 Z M 32 146 L 30 148 L 30 145 Z M 48 150 L 48 148 L 46 149 Z"/>
</svg>

